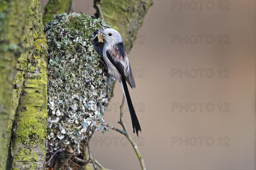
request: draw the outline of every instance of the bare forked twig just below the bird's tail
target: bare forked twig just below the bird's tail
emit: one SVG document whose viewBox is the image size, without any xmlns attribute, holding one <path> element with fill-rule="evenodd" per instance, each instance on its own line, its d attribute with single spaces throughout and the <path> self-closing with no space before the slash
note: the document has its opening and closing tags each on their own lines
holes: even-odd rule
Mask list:
<svg viewBox="0 0 256 170">
<path fill-rule="evenodd" d="M 123 99 L 122 99 L 122 104 L 120 106 L 120 120 L 119 120 L 119 124 L 122 126 L 123 130 L 121 129 L 118 129 L 114 126 L 111 126 L 111 125 L 106 125 L 107 127 L 110 127 L 111 129 L 113 130 L 116 130 L 117 132 L 119 133 L 122 133 L 123 135 L 126 136 L 126 138 L 128 139 L 128 141 L 131 143 L 132 147 L 134 148 L 134 151 L 140 161 L 140 167 L 142 170 L 145 170 L 146 167 L 145 167 L 145 164 L 144 164 L 144 160 L 143 160 L 143 157 L 142 155 L 140 154 L 140 151 L 137 147 L 137 144 L 132 140 L 131 136 L 129 135 L 127 129 L 126 129 L 126 126 L 125 126 L 125 122 L 123 121 L 123 115 L 124 115 L 124 112 L 123 112 L 123 105 L 124 105 L 124 102 L 125 102 L 125 96 L 123 96 Z"/>
</svg>

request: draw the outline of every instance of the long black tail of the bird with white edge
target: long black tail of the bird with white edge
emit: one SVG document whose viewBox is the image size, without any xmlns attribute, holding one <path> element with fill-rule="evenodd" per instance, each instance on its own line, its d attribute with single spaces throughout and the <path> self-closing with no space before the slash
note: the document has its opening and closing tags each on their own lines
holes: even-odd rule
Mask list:
<svg viewBox="0 0 256 170">
<path fill-rule="evenodd" d="M 129 94 L 129 91 L 128 91 L 128 87 L 127 87 L 127 84 L 126 84 L 126 81 L 125 81 L 124 78 L 122 78 L 122 87 L 123 87 L 126 102 L 127 102 L 127 105 L 128 105 L 129 111 L 130 111 L 132 127 L 133 127 L 133 130 L 134 130 L 134 133 L 135 133 L 135 130 L 136 130 L 136 134 L 138 136 L 138 132 L 141 131 L 140 123 L 139 123 L 139 120 L 138 120 L 138 118 L 136 116 L 136 113 L 134 111 L 134 107 L 133 107 L 132 102 L 131 102 L 131 97 L 130 97 L 130 94 Z"/>
</svg>

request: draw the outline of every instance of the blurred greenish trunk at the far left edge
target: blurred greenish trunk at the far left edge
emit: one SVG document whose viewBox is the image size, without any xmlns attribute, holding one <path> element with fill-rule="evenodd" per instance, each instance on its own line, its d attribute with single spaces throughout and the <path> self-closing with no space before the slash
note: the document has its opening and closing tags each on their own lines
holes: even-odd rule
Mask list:
<svg viewBox="0 0 256 170">
<path fill-rule="evenodd" d="M 10 143 L 10 120 L 14 117 L 10 114 L 13 80 L 17 58 L 24 50 L 22 35 L 28 11 L 26 3 L 26 0 L 0 0 L 0 169 L 5 169 Z"/>
</svg>

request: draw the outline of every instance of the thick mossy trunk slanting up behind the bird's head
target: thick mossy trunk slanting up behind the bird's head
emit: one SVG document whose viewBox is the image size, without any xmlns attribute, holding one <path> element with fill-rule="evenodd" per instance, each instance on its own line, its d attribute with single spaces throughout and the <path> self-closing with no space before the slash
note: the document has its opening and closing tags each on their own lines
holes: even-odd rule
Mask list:
<svg viewBox="0 0 256 170">
<path fill-rule="evenodd" d="M 94 0 L 96 17 L 99 17 L 102 11 L 104 20 L 121 34 L 128 53 L 152 5 L 153 0 Z"/>
</svg>

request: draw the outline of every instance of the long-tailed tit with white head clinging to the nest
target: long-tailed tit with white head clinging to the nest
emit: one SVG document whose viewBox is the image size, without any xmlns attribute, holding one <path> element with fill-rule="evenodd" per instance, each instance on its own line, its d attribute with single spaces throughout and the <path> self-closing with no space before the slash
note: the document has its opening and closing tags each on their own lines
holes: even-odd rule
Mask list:
<svg viewBox="0 0 256 170">
<path fill-rule="evenodd" d="M 128 56 L 125 52 L 122 37 L 119 32 L 111 28 L 104 29 L 102 35 L 104 39 L 102 53 L 103 59 L 108 67 L 108 74 L 114 76 L 122 84 L 122 90 L 131 115 L 133 132 L 135 133 L 136 131 L 138 136 L 138 131 L 141 131 L 140 123 L 134 111 L 126 84 L 127 81 L 131 88 L 135 88 L 135 81 L 131 72 Z"/>
</svg>

